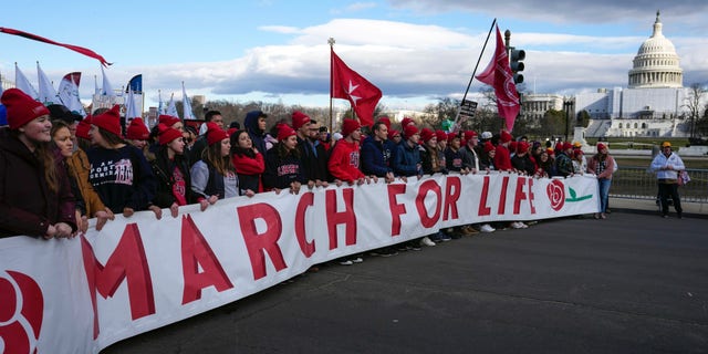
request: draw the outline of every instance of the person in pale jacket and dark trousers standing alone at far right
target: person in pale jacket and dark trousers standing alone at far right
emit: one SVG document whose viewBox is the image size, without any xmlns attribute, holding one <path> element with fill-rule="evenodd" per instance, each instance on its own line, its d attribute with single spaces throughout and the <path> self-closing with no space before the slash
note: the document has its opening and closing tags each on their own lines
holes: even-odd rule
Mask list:
<svg viewBox="0 0 708 354">
<path fill-rule="evenodd" d="M 674 209 L 676 209 L 676 216 L 680 219 L 684 209 L 678 195 L 678 179 L 681 178 L 679 171 L 685 170 L 686 166 L 678 154 L 673 152 L 671 143 L 662 143 L 662 152 L 654 157 L 649 169 L 656 173 L 656 179 L 659 185 L 662 216 L 668 218 L 668 198 L 670 197 L 674 202 Z"/>
</svg>

